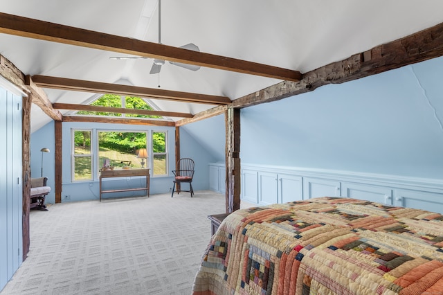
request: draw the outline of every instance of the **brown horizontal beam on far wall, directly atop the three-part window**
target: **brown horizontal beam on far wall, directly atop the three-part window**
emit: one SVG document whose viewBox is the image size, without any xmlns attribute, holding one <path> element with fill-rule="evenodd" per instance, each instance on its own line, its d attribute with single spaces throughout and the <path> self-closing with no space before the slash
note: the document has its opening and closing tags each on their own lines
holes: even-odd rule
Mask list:
<svg viewBox="0 0 443 295">
<path fill-rule="evenodd" d="M 129 125 L 152 125 L 174 127 L 175 123 L 165 120 L 131 119 L 131 118 L 109 118 L 98 116 L 63 116 L 63 122 L 85 122 L 85 123 L 111 123 Z"/>
</svg>

